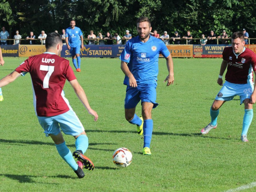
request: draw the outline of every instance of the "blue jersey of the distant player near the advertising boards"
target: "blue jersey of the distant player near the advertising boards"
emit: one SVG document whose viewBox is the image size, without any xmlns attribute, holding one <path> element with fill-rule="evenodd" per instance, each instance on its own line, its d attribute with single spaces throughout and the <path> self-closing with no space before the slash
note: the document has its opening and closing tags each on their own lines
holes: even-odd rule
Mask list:
<svg viewBox="0 0 256 192">
<path fill-rule="evenodd" d="M 69 38 L 69 46 L 77 47 L 80 45 L 81 38 L 83 33 L 79 27 L 75 27 L 71 29 L 71 27 L 66 28 L 66 37 Z"/>
</svg>

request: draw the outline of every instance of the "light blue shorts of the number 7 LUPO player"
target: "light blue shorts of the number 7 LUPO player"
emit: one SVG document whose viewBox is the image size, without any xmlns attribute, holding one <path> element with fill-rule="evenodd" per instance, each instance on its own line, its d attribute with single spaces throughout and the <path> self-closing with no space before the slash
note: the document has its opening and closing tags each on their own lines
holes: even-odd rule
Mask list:
<svg viewBox="0 0 256 192">
<path fill-rule="evenodd" d="M 37 118 L 47 137 L 49 134 L 58 135 L 60 133 L 60 128 L 63 133 L 72 136 L 79 135 L 84 131 L 81 121 L 72 109 L 60 115 L 51 117 L 37 116 Z"/>
</svg>

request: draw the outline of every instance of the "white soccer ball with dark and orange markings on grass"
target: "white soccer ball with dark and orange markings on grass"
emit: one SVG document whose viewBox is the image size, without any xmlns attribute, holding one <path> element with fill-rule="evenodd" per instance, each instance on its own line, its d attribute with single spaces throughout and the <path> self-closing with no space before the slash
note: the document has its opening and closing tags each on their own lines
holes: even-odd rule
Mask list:
<svg viewBox="0 0 256 192">
<path fill-rule="evenodd" d="M 127 148 L 118 148 L 113 153 L 113 162 L 117 167 L 127 167 L 132 162 L 133 155 Z"/>
</svg>

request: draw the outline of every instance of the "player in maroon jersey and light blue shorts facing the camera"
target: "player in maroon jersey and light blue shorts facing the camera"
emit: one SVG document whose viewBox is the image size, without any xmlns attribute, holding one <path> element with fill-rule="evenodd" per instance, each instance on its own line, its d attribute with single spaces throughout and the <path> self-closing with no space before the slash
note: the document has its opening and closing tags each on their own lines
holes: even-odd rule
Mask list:
<svg viewBox="0 0 256 192">
<path fill-rule="evenodd" d="M 244 47 L 244 35 L 242 32 L 232 34 L 232 47 L 225 47 L 223 50 L 223 61 L 220 66 L 217 83 L 223 85 L 216 96 L 211 109 L 211 122 L 201 130 L 202 134 L 207 134 L 211 129 L 217 127 L 217 117 L 219 108 L 234 96 L 240 97 L 240 104 L 244 103 L 244 119 L 241 140 L 248 142 L 247 132 L 250 127 L 253 110 L 252 104 L 256 101 L 256 89 L 253 86 L 252 71 L 256 74 L 256 54 Z M 228 68 L 227 68 L 228 67 Z M 225 83 L 222 76 L 227 68 Z"/>
</svg>

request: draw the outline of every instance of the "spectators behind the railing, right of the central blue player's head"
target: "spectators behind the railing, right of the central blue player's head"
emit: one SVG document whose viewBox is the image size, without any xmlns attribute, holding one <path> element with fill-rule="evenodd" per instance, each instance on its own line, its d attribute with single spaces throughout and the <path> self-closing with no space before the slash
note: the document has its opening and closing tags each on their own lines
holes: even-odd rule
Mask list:
<svg viewBox="0 0 256 192">
<path fill-rule="evenodd" d="M 244 38 L 245 38 L 245 44 L 248 44 L 248 38 L 249 38 L 249 34 L 248 32 L 246 32 L 245 29 L 243 29 L 243 33 L 244 33 Z M 164 43 L 166 45 L 168 44 L 180 44 L 181 39 L 186 39 L 187 40 L 187 44 L 193 44 L 192 42 L 192 35 L 190 33 L 190 31 L 187 31 L 187 34 L 184 35 L 183 37 L 181 37 L 178 33 L 178 31 L 175 31 L 173 36 L 170 37 L 167 34 L 167 31 L 164 31 L 164 34 L 162 36 L 160 36 L 156 30 L 154 30 L 153 32 L 151 32 L 151 36 L 156 37 L 161 39 L 162 41 L 164 41 Z M 226 33 L 226 30 L 222 31 L 222 34 L 220 34 L 219 36 L 216 36 L 216 34 L 214 33 L 214 31 L 210 31 L 210 34 L 206 37 L 205 34 L 201 34 L 201 39 L 200 39 L 200 44 L 201 45 L 206 45 L 206 44 L 216 44 L 217 40 L 216 39 L 221 39 L 219 44 L 229 44 L 228 39 L 230 39 L 231 37 L 228 36 L 228 34 Z"/>
</svg>

